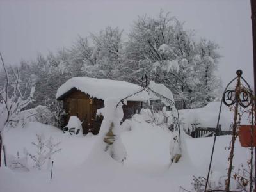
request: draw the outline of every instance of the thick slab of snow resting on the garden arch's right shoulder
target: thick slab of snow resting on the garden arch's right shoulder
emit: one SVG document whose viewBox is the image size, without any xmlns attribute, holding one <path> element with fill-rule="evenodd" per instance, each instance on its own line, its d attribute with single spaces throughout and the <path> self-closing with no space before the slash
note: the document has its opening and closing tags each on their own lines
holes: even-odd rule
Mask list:
<svg viewBox="0 0 256 192">
<path fill-rule="evenodd" d="M 161 84 L 161 83 L 158 84 L 158 83 L 155 83 L 154 81 L 150 81 L 148 87 L 151 90 L 153 90 L 154 92 L 157 92 L 160 95 L 163 95 L 164 97 L 172 100 L 172 102 L 175 103 L 171 90 L 169 90 L 166 86 L 164 86 L 164 84 Z M 170 103 L 167 102 L 167 100 L 165 100 L 165 99 L 163 99 L 161 97 L 158 97 L 157 95 L 155 95 L 154 93 L 152 93 L 150 91 L 149 91 L 149 97 L 150 97 L 150 99 L 162 100 L 162 102 L 164 102 L 164 104 L 166 104 L 166 106 L 170 106 Z"/>
</svg>

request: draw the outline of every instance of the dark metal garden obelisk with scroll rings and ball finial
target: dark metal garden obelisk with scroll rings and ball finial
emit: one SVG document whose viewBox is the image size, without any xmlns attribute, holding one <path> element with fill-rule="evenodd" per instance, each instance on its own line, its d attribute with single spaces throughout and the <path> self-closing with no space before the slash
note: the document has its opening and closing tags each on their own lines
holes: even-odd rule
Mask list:
<svg viewBox="0 0 256 192">
<path fill-rule="evenodd" d="M 233 163 L 233 157 L 234 157 L 234 145 L 236 141 L 236 131 L 237 131 L 237 125 L 240 123 L 241 115 L 239 115 L 238 107 L 240 106 L 241 108 L 248 108 L 249 106 L 254 109 L 254 102 L 253 102 L 253 92 L 252 89 L 250 88 L 250 85 L 247 83 L 247 81 L 242 77 L 242 70 L 237 70 L 236 72 L 237 76 L 230 81 L 230 83 L 227 84 L 223 96 L 221 99 L 221 104 L 220 104 L 220 110 L 219 110 L 219 115 L 218 115 L 218 121 L 216 125 L 216 133 L 218 132 L 218 127 L 219 127 L 219 122 L 220 122 L 220 115 L 221 115 L 221 108 L 222 108 L 222 103 L 224 103 L 226 106 L 234 106 L 234 122 L 232 124 L 232 140 L 231 140 L 231 147 L 230 147 L 230 154 L 228 157 L 229 161 L 229 166 L 228 166 L 228 173 L 227 173 L 227 180 L 225 182 L 225 191 L 230 191 L 230 178 L 231 178 L 231 172 L 232 172 L 232 163 Z M 237 80 L 236 88 L 235 90 L 228 90 L 228 87 L 230 84 L 234 83 L 234 81 Z M 243 86 L 243 83 L 245 86 Z M 251 134 L 254 130 L 253 125 L 254 125 L 254 113 L 253 110 L 251 110 L 252 115 L 252 122 L 251 122 Z M 212 164 L 212 157 L 214 153 L 214 147 L 216 143 L 216 136 L 214 136 L 214 141 L 212 145 L 212 152 L 211 152 L 211 159 L 210 159 L 210 164 L 209 164 L 209 169 L 207 173 L 207 179 L 205 182 L 205 192 L 207 191 L 207 186 L 209 182 L 209 175 L 211 172 L 211 164 Z M 252 164 L 252 158 L 253 158 L 253 143 L 251 140 L 251 164 Z M 252 191 L 252 168 L 250 172 L 250 191 Z"/>
</svg>

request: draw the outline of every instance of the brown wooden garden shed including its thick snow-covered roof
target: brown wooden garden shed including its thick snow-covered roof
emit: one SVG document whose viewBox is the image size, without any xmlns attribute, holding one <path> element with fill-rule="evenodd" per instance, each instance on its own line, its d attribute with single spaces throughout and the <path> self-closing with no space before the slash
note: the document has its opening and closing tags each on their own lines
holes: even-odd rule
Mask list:
<svg viewBox="0 0 256 192">
<path fill-rule="evenodd" d="M 67 112 L 65 124 L 70 116 L 77 116 L 83 122 L 83 134 L 97 134 L 103 120 L 102 115 L 97 115 L 97 110 L 104 108 L 104 100 L 124 99 L 139 90 L 142 90 L 140 86 L 125 81 L 73 77 L 60 86 L 56 98 L 63 100 Z M 144 91 L 127 98 L 127 104 L 123 105 L 124 119 L 140 113 L 142 102 L 147 99 L 148 93 Z"/>
</svg>

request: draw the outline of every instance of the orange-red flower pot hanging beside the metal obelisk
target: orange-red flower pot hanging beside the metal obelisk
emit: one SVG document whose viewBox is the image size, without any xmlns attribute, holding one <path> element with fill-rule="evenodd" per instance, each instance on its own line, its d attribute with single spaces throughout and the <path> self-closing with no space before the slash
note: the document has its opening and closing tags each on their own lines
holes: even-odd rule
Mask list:
<svg viewBox="0 0 256 192">
<path fill-rule="evenodd" d="M 252 130 L 252 142 L 251 142 L 251 128 Z M 255 147 L 256 146 L 256 126 L 255 125 L 240 125 L 238 132 L 239 141 L 242 147 Z"/>
</svg>

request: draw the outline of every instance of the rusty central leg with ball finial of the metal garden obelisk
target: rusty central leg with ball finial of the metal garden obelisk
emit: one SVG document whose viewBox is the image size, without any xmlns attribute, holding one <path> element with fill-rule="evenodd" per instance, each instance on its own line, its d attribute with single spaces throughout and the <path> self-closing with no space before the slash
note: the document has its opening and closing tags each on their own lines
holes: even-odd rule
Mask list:
<svg viewBox="0 0 256 192">
<path fill-rule="evenodd" d="M 241 71 L 237 70 L 237 85 L 236 85 L 236 104 L 235 104 L 235 113 L 234 113 L 234 122 L 233 122 L 233 131 L 232 131 L 232 140 L 231 140 L 231 150 L 228 157 L 229 160 L 229 168 L 228 168 L 228 179 L 226 180 L 226 191 L 229 191 L 230 188 L 230 178 L 232 172 L 232 164 L 233 164 L 233 157 L 234 157 L 234 147 L 236 141 L 236 128 L 237 128 L 237 113 L 238 113 L 238 102 L 241 93 Z"/>
</svg>

